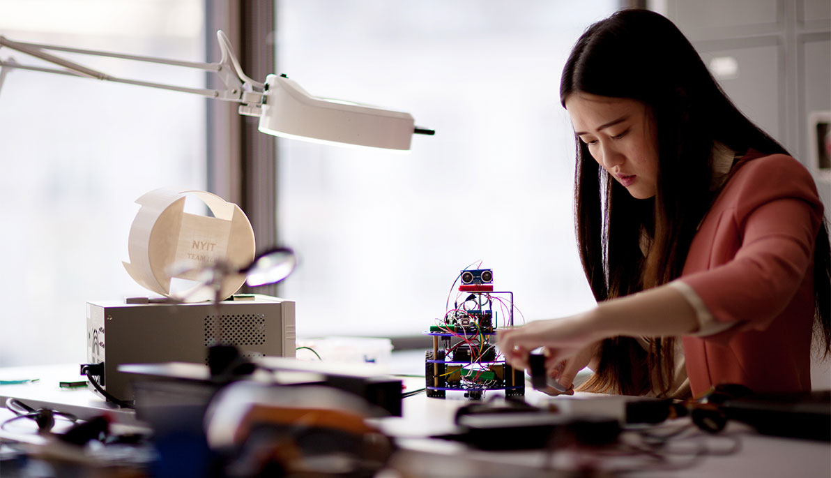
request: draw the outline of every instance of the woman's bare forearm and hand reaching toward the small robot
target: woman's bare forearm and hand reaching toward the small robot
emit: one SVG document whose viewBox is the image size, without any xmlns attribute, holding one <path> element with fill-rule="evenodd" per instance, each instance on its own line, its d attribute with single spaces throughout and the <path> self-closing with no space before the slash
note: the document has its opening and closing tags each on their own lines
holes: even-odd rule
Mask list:
<svg viewBox="0 0 831 478">
<path fill-rule="evenodd" d="M 529 352 L 546 347 L 546 366 L 553 371 L 563 360 L 603 338 L 684 335 L 697 328 L 696 310 L 675 288 L 662 285 L 599 303 L 586 313 L 505 330 L 499 333 L 499 347 L 517 369 L 528 367 Z"/>
</svg>

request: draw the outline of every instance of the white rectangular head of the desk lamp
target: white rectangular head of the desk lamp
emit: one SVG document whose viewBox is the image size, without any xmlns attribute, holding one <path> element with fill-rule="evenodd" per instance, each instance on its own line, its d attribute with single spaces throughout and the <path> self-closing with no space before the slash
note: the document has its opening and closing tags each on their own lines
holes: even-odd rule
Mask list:
<svg viewBox="0 0 831 478">
<path fill-rule="evenodd" d="M 311 96 L 286 76 L 268 75 L 259 131 L 296 140 L 410 150 L 413 117 L 401 111 Z"/>
</svg>

